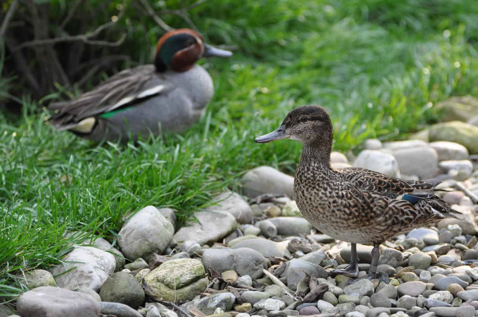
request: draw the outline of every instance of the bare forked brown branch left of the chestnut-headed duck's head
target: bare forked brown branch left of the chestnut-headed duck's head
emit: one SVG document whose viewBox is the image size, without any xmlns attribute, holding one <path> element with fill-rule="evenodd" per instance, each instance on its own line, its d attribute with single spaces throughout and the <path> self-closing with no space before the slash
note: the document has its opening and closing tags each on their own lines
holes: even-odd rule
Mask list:
<svg viewBox="0 0 478 317">
<path fill-rule="evenodd" d="M 53 39 L 42 39 L 42 40 L 33 40 L 33 41 L 29 41 L 29 42 L 24 42 L 24 43 L 18 45 L 17 47 L 15 47 L 14 51 L 18 51 L 18 50 L 21 50 L 22 48 L 29 47 L 29 46 L 51 45 L 51 44 L 55 44 L 55 43 L 59 43 L 59 42 L 74 42 L 74 41 L 83 41 L 83 42 L 85 42 L 87 44 L 91 44 L 91 45 L 119 46 L 126 39 L 126 33 L 123 33 L 121 35 L 121 38 L 116 42 L 98 41 L 98 40 L 90 40 L 90 39 L 97 36 L 101 31 L 109 28 L 110 26 L 115 24 L 117 21 L 119 21 L 124 15 L 125 8 L 126 8 L 126 0 L 123 0 L 121 10 L 118 13 L 118 19 L 116 21 L 109 21 L 105 24 L 100 25 L 93 32 L 89 32 L 89 33 L 86 33 L 86 34 L 73 35 L 73 36 L 55 37 Z"/>
</svg>

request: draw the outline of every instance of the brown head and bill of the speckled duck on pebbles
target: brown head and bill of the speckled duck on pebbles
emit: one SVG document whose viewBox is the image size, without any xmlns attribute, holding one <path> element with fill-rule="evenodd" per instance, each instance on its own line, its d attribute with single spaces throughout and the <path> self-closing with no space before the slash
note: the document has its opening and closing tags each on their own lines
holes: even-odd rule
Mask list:
<svg viewBox="0 0 478 317">
<path fill-rule="evenodd" d="M 330 117 L 321 106 L 301 106 L 285 116 L 280 127 L 256 137 L 257 143 L 268 143 L 283 138 L 302 142 L 305 146 L 332 147 L 333 129 Z"/>
</svg>

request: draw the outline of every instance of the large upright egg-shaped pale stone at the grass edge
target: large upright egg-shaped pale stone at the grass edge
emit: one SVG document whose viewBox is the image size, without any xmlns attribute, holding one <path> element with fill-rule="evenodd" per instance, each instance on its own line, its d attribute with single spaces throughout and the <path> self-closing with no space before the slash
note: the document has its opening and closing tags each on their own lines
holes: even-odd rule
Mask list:
<svg viewBox="0 0 478 317">
<path fill-rule="evenodd" d="M 174 234 L 174 226 L 154 206 L 146 206 L 133 215 L 120 230 L 118 245 L 131 261 L 162 254 Z"/>
</svg>

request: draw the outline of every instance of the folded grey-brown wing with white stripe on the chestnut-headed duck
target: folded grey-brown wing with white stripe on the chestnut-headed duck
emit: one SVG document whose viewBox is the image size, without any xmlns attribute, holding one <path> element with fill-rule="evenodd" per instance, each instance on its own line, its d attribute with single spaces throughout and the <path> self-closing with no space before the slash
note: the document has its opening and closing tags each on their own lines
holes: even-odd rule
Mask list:
<svg viewBox="0 0 478 317">
<path fill-rule="evenodd" d="M 49 122 L 57 130 L 70 129 L 87 118 L 133 106 L 139 99 L 166 94 L 174 88 L 155 72 L 154 65 L 141 65 L 111 76 L 74 100 L 50 104 L 48 108 L 55 113 Z"/>
</svg>

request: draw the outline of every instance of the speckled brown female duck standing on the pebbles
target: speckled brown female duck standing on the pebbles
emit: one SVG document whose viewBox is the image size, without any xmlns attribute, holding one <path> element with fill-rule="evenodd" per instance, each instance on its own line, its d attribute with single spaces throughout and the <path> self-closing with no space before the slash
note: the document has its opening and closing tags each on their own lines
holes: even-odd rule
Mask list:
<svg viewBox="0 0 478 317">
<path fill-rule="evenodd" d="M 350 264 L 332 274 L 358 276 L 356 243 L 361 243 L 373 245 L 368 278 L 375 278 L 381 243 L 459 214 L 433 193 L 438 181 L 401 180 L 356 167 L 333 168 L 332 123 L 321 106 L 293 109 L 280 127 L 255 141 L 283 138 L 303 143 L 293 189 L 304 218 L 317 230 L 351 243 Z"/>
</svg>

